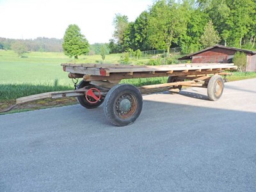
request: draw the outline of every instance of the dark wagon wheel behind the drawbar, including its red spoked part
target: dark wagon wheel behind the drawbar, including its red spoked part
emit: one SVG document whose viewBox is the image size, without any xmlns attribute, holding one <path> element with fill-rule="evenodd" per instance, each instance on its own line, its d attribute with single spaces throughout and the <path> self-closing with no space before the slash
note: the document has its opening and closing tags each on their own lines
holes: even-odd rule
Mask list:
<svg viewBox="0 0 256 192">
<path fill-rule="evenodd" d="M 99 107 L 102 104 L 102 102 L 104 102 L 104 98 L 102 97 L 100 98 L 93 97 L 93 95 L 95 95 L 93 92 L 98 92 L 98 91 L 94 85 L 90 84 L 90 82 L 82 80 L 78 84 L 77 89 L 83 88 L 83 87 L 91 89 L 90 91 L 91 94 L 77 96 L 77 101 L 79 102 L 79 104 L 81 104 L 81 106 L 87 109 L 93 109 L 93 108 Z"/>
</svg>

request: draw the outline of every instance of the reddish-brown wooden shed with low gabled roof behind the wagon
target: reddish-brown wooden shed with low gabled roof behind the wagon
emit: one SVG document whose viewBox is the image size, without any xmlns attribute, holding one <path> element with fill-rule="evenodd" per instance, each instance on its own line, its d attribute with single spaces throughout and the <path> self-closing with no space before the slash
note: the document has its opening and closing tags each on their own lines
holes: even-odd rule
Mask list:
<svg viewBox="0 0 256 192">
<path fill-rule="evenodd" d="M 244 52 L 247 56 L 246 71 L 256 72 L 256 52 L 235 47 L 214 45 L 202 51 L 194 52 L 179 58 L 179 60 L 192 60 L 192 63 L 232 63 L 234 54 Z"/>
</svg>

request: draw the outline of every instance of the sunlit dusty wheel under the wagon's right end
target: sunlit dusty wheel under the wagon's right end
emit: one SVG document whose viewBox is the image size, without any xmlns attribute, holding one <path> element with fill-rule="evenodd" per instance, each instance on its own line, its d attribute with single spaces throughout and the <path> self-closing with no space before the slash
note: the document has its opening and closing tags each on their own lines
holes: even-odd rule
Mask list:
<svg viewBox="0 0 256 192">
<path fill-rule="evenodd" d="M 219 89 L 216 90 L 216 86 L 219 86 Z M 207 85 L 207 95 L 209 100 L 215 101 L 220 99 L 224 89 L 224 81 L 221 76 L 214 75 L 209 80 Z"/>
</svg>

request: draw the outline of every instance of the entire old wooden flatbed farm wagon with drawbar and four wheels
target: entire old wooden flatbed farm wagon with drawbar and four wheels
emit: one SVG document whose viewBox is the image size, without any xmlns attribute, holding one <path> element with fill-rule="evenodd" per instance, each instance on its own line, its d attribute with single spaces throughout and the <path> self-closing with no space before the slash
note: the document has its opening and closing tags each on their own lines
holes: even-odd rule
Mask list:
<svg viewBox="0 0 256 192">
<path fill-rule="evenodd" d="M 65 72 L 69 72 L 68 77 L 83 78 L 79 84 L 75 83 L 76 90 L 22 97 L 17 99 L 17 103 L 47 97 L 77 97 L 81 106 L 92 109 L 104 102 L 105 116 L 116 126 L 132 124 L 140 116 L 143 90 L 159 87 L 180 90 L 182 86 L 198 86 L 207 88 L 209 100 L 218 100 L 224 88 L 221 75 L 225 77 L 225 71 L 237 68 L 234 64 L 220 63 L 162 66 L 63 63 L 61 66 Z M 168 77 L 168 81 L 140 88 L 131 84 L 119 84 L 122 79 L 145 77 Z"/>
</svg>

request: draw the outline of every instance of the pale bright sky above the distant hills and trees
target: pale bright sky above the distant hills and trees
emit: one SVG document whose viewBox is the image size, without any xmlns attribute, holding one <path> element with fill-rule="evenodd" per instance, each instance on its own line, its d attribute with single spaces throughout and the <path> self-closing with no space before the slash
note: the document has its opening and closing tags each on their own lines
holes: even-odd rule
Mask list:
<svg viewBox="0 0 256 192">
<path fill-rule="evenodd" d="M 63 38 L 77 24 L 90 44 L 108 43 L 116 13 L 134 21 L 153 0 L 0 0 L 0 37 Z"/>
</svg>

